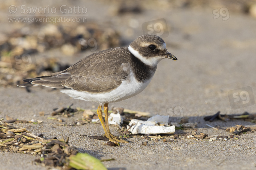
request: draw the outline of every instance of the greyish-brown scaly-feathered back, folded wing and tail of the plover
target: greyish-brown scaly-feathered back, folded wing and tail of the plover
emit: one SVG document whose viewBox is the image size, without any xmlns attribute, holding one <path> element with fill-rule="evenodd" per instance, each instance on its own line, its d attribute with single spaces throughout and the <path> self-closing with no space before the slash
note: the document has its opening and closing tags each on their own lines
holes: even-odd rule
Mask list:
<svg viewBox="0 0 256 170">
<path fill-rule="evenodd" d="M 108 92 L 127 79 L 130 52 L 126 47 L 91 54 L 68 69 L 43 77 L 25 79 L 19 86 L 43 85 L 53 88 L 73 88 L 79 91 Z"/>
</svg>

